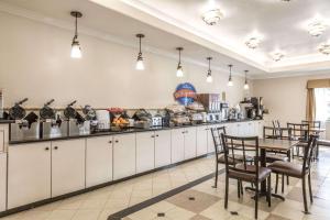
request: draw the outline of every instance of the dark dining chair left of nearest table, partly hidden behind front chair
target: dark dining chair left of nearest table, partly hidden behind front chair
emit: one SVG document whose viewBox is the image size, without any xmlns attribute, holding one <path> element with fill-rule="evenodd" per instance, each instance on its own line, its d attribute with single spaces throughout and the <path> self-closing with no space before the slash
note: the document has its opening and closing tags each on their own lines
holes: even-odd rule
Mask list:
<svg viewBox="0 0 330 220">
<path fill-rule="evenodd" d="M 224 164 L 224 154 L 223 154 L 223 145 L 221 142 L 221 134 L 226 134 L 226 127 L 211 128 L 211 134 L 213 139 L 215 152 L 216 152 L 216 180 L 215 188 L 218 187 L 218 173 L 219 173 L 219 164 Z M 229 157 L 230 164 L 242 163 L 243 155 L 237 153 L 234 156 Z M 246 156 L 248 162 L 253 163 L 253 158 L 251 156 Z M 238 183 L 238 187 L 243 188 L 241 183 Z M 243 190 L 241 190 L 243 194 Z M 240 195 L 239 195 L 240 197 Z"/>
</svg>

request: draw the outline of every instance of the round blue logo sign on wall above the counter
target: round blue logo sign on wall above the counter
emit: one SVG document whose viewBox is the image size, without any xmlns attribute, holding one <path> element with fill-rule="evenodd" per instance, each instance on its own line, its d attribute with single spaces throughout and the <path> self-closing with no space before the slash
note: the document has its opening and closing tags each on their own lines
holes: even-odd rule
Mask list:
<svg viewBox="0 0 330 220">
<path fill-rule="evenodd" d="M 174 98 L 180 105 L 188 106 L 196 100 L 196 89 L 189 82 L 179 84 L 175 89 Z"/>
</svg>

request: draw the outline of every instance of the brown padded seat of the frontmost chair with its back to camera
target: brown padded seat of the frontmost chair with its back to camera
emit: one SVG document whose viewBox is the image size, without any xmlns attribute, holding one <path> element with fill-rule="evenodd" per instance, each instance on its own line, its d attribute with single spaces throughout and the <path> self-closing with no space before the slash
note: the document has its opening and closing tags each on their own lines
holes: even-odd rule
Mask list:
<svg viewBox="0 0 330 220">
<path fill-rule="evenodd" d="M 246 169 L 244 169 L 244 164 L 238 164 L 237 167 L 238 169 L 242 169 L 242 172 L 239 170 L 232 170 L 230 169 L 228 175 L 231 178 L 237 178 L 237 179 L 241 179 L 243 182 L 255 182 L 255 174 L 248 174 L 248 173 L 243 173 L 244 170 L 248 172 L 254 172 L 255 173 L 255 165 L 246 165 Z M 272 173 L 272 169 L 267 168 L 267 167 L 258 167 L 258 179 L 257 182 L 263 182 L 264 179 L 266 179 Z"/>
</svg>

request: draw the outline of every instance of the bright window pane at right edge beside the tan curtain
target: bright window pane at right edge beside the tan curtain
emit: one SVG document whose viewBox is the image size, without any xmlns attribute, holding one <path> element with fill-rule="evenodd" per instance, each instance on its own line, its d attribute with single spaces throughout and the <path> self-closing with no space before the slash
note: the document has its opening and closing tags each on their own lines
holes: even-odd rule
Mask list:
<svg viewBox="0 0 330 220">
<path fill-rule="evenodd" d="M 316 88 L 316 120 L 330 120 L 330 88 Z"/>
</svg>

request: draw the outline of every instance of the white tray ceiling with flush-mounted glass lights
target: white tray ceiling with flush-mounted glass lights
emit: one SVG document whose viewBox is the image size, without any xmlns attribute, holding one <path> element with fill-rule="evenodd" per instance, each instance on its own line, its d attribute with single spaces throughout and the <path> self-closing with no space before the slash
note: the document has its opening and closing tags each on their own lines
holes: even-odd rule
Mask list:
<svg viewBox="0 0 330 220">
<path fill-rule="evenodd" d="M 329 0 L 216 0 L 224 12 L 219 24 L 201 20 L 209 0 L 0 0 L 0 11 L 73 29 L 69 11 L 84 13 L 80 32 L 136 46 L 134 35 L 146 35 L 146 50 L 176 57 L 175 47 L 184 46 L 186 61 L 207 65 L 205 57 L 227 70 L 228 64 L 252 77 L 278 77 L 328 72 L 330 56 L 316 47 L 330 37 L 330 29 L 319 37 L 305 30 L 306 22 L 320 14 L 327 19 Z M 257 11 L 256 11 L 257 9 Z M 329 14 L 329 13 L 328 13 Z M 330 18 L 329 18 L 330 19 Z M 257 50 L 249 50 L 244 40 L 253 32 L 264 40 Z M 285 51 L 286 58 L 273 62 L 270 52 Z"/>
</svg>

